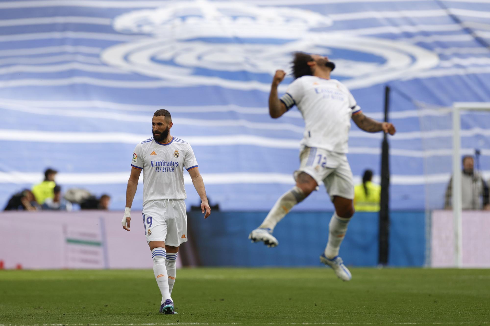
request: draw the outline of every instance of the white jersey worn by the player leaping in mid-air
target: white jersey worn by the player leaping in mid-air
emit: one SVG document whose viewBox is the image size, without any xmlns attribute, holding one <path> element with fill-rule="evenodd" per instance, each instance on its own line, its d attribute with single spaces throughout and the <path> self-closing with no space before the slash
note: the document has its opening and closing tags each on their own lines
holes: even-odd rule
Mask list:
<svg viewBox="0 0 490 326">
<path fill-rule="evenodd" d="M 288 110 L 296 105 L 305 120 L 301 145 L 347 153 L 350 118 L 361 108 L 341 82 L 303 76 L 288 86 L 280 100 Z"/>
</svg>

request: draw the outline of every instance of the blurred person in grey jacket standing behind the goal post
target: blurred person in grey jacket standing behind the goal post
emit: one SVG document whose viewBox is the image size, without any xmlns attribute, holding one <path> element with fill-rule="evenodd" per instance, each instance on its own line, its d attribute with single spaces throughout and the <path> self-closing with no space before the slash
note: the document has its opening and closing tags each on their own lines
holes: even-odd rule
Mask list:
<svg viewBox="0 0 490 326">
<path fill-rule="evenodd" d="M 490 210 L 489 187 L 481 174 L 474 170 L 472 156 L 463 157 L 463 171 L 461 171 L 461 196 L 463 198 L 463 210 Z M 452 208 L 453 178 L 447 185 L 444 208 Z"/>
</svg>

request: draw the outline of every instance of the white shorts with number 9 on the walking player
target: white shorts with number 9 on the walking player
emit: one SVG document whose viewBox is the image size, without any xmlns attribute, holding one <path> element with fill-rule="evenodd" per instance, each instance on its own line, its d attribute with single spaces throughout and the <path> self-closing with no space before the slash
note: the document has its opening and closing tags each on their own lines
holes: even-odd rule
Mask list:
<svg viewBox="0 0 490 326">
<path fill-rule="evenodd" d="M 187 241 L 187 214 L 184 200 L 152 200 L 143 205 L 147 242 L 165 241 L 178 247 Z"/>
</svg>

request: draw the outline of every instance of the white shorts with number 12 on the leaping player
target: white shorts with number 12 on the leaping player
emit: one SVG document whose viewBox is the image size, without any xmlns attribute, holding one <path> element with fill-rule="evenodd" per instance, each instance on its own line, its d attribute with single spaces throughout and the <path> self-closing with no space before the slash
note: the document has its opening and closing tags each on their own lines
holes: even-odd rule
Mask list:
<svg viewBox="0 0 490 326">
<path fill-rule="evenodd" d="M 330 198 L 340 196 L 354 199 L 354 181 L 347 157 L 325 149 L 304 146 L 299 153 L 299 169 L 294 171 L 294 179 L 299 173 L 310 175 L 318 185 L 323 182 Z"/>
</svg>

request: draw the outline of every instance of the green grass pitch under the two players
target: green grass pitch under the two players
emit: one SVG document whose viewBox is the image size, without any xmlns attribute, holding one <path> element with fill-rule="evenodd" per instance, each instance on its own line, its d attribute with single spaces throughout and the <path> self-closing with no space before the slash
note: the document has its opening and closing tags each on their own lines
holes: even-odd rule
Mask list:
<svg viewBox="0 0 490 326">
<path fill-rule="evenodd" d="M 0 325 L 486 325 L 490 270 L 180 269 L 178 315 L 151 270 L 0 271 Z"/>
</svg>

